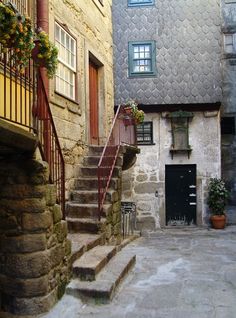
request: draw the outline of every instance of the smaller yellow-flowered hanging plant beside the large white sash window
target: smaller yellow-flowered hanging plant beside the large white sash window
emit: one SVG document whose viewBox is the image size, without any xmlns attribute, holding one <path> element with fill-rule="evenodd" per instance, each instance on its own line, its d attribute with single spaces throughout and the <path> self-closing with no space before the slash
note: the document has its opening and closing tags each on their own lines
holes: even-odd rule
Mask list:
<svg viewBox="0 0 236 318">
<path fill-rule="evenodd" d="M 36 32 L 35 48 L 32 51 L 32 58 L 36 66 L 47 69 L 47 75 L 52 78 L 58 64 L 58 48 L 49 40 L 46 32 L 38 30 Z"/>
</svg>

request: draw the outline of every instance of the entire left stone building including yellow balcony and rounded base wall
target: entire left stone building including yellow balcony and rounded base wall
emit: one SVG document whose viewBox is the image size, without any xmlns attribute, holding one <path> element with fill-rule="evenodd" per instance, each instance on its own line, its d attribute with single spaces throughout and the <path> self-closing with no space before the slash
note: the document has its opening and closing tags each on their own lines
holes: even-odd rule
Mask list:
<svg viewBox="0 0 236 318">
<path fill-rule="evenodd" d="M 64 171 L 69 194 L 113 117 L 111 1 L 11 2 L 59 49 L 49 81 L 33 61 L 19 72 L 0 47 L 0 316 L 35 317 L 71 276 Z"/>
</svg>

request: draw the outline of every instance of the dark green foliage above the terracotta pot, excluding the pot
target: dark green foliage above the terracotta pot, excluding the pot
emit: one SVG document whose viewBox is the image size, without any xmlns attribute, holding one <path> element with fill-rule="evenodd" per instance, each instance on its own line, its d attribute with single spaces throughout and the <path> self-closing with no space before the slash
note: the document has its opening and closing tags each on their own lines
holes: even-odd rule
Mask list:
<svg viewBox="0 0 236 318">
<path fill-rule="evenodd" d="M 211 178 L 208 186 L 207 203 L 213 215 L 223 215 L 229 192 L 223 180 Z"/>
</svg>

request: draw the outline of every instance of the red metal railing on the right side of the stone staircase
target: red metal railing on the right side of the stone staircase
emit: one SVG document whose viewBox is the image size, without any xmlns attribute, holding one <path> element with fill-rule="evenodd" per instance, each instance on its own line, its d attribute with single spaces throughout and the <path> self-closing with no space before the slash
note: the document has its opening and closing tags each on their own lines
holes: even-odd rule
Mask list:
<svg viewBox="0 0 236 318">
<path fill-rule="evenodd" d="M 119 106 L 111 131 L 98 164 L 98 212 L 102 215 L 106 193 L 112 178 L 121 145 L 136 145 L 136 126 L 133 116 Z"/>
</svg>

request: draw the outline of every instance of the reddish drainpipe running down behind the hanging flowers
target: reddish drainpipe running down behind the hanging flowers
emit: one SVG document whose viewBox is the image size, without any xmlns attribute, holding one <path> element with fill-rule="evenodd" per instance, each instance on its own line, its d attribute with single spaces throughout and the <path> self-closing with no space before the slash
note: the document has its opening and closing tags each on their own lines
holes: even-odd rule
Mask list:
<svg viewBox="0 0 236 318">
<path fill-rule="evenodd" d="M 49 33 L 49 0 L 37 0 L 37 27 Z M 46 70 L 41 70 L 47 96 L 49 95 L 49 80 Z"/>
</svg>

